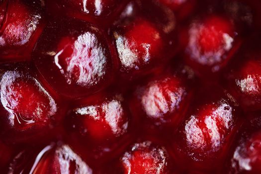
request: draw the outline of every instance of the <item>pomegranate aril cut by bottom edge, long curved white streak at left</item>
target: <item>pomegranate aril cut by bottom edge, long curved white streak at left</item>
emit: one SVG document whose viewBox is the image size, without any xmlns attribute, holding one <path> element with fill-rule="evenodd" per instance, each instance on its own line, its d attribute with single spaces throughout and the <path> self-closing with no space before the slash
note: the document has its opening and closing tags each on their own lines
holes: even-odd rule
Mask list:
<svg viewBox="0 0 261 174">
<path fill-rule="evenodd" d="M 92 169 L 66 144 L 25 149 L 9 166 L 11 174 L 92 174 Z"/>
</svg>

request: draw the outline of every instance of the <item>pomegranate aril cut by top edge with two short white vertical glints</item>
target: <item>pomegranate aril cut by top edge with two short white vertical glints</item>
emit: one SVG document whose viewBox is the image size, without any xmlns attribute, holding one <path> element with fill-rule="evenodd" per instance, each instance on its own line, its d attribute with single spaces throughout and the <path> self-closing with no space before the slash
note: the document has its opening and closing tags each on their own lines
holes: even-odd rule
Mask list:
<svg viewBox="0 0 261 174">
<path fill-rule="evenodd" d="M 65 14 L 94 24 L 108 26 L 129 0 L 46 0 L 52 15 Z M 57 14 L 57 11 L 60 13 Z"/>
</svg>

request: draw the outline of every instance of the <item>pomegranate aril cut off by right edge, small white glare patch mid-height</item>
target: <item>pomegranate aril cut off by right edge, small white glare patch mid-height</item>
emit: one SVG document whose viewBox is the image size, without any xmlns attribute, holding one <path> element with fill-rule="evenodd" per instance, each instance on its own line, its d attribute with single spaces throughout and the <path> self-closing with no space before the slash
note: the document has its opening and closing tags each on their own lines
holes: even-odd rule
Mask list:
<svg viewBox="0 0 261 174">
<path fill-rule="evenodd" d="M 261 109 L 261 47 L 253 40 L 256 41 L 251 38 L 246 42 L 245 49 L 237 55 L 243 63 L 234 63 L 226 76 L 229 90 L 245 110 Z"/>
</svg>

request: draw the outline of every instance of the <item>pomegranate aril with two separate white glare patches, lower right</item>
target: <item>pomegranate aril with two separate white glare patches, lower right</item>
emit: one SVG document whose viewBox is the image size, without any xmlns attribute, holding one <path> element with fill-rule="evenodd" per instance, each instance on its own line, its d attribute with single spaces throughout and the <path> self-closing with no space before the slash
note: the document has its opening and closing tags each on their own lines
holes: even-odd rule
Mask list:
<svg viewBox="0 0 261 174">
<path fill-rule="evenodd" d="M 222 88 L 207 88 L 198 92 L 172 138 L 170 151 L 183 170 L 220 171 L 241 126 L 233 97 Z"/>
</svg>

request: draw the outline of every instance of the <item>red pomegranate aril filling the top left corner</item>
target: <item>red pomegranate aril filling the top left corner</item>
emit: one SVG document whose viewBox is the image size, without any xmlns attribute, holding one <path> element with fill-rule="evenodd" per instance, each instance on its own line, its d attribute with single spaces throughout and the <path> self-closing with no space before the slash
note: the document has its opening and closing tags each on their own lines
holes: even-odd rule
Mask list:
<svg viewBox="0 0 261 174">
<path fill-rule="evenodd" d="M 3 0 L 1 8 L 0 62 L 28 60 L 44 26 L 41 1 Z"/>
</svg>

